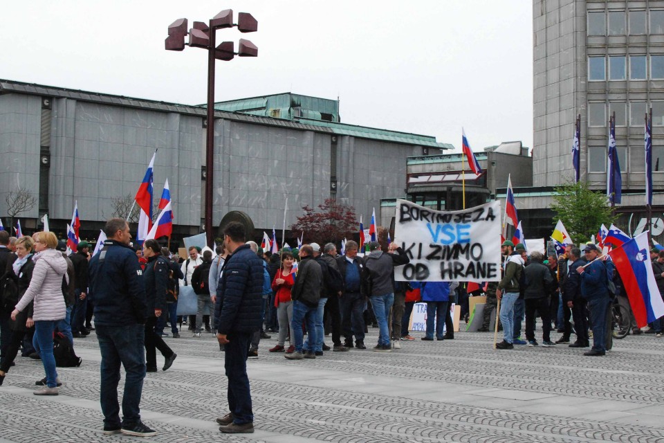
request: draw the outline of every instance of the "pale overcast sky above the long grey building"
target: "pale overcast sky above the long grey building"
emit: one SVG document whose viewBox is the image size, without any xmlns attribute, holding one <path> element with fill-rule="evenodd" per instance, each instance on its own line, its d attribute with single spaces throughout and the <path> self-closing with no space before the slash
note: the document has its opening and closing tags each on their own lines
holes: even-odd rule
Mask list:
<svg viewBox="0 0 664 443">
<path fill-rule="evenodd" d="M 436 136 L 473 150 L 533 144 L 532 2 L 8 1 L 0 78 L 121 96 L 206 100 L 207 57 L 165 51 L 175 19 L 250 12 L 257 58 L 217 62 L 216 101 L 291 91 L 340 99 L 342 122 Z M 237 46 L 236 46 L 237 48 Z"/>
</svg>

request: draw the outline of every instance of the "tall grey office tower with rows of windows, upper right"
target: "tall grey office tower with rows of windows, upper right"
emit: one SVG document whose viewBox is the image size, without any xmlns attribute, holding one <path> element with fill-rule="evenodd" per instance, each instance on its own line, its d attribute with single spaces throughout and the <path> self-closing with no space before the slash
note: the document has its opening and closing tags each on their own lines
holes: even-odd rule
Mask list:
<svg viewBox="0 0 664 443">
<path fill-rule="evenodd" d="M 652 107 L 653 203 L 664 204 L 664 1 L 534 0 L 533 58 L 533 185 L 573 178 L 580 114 L 581 177 L 606 189 L 615 113 L 622 206 L 643 206 L 644 116 Z"/>
</svg>

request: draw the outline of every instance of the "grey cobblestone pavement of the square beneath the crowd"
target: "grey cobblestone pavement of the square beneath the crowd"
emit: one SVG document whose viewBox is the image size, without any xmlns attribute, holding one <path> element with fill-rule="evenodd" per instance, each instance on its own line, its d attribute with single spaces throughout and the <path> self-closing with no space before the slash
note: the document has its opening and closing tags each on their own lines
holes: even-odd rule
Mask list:
<svg viewBox="0 0 664 443">
<path fill-rule="evenodd" d="M 488 333 L 443 342 L 420 333 L 390 354 L 304 361 L 268 353 L 275 339 L 263 340 L 248 361 L 256 432 L 245 435 L 214 423 L 227 412 L 216 340 L 182 335 L 166 339 L 173 367 L 145 379 L 142 419 L 159 431 L 151 442 L 664 442 L 664 338 L 652 335 L 584 357 L 566 345 L 492 350 Z M 367 345 L 376 335 L 370 329 Z M 58 368 L 58 397 L 35 397 L 42 364 L 17 357 L 0 387 L 0 443 L 148 440 L 102 434 L 94 333 L 75 348 L 84 363 Z"/>
</svg>

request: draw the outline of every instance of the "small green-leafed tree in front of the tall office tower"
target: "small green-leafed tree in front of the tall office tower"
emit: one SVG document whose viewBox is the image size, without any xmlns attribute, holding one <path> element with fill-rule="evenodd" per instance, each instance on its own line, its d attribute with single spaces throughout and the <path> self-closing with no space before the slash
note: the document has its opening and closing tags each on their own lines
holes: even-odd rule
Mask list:
<svg viewBox="0 0 664 443">
<path fill-rule="evenodd" d="M 555 213 L 553 223 L 562 220 L 567 233 L 575 243 L 588 242 L 597 234 L 602 223 L 610 226 L 616 220 L 611 213 L 607 196 L 603 192 L 588 189 L 588 183 L 565 183 L 555 188 L 551 210 Z"/>
</svg>

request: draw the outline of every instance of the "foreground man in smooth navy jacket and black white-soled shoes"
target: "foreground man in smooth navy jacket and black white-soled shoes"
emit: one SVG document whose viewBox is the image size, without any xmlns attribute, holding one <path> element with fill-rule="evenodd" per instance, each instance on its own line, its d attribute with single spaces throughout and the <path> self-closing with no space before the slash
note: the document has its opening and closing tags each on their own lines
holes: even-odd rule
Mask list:
<svg viewBox="0 0 664 443">
<path fill-rule="evenodd" d="M 94 305 L 95 328 L 102 354 L 100 401 L 104 433 L 155 435 L 140 421 L 140 395 L 145 378 L 145 320 L 147 302 L 142 271 L 129 246 L 127 221 L 107 221 L 108 240 L 89 266 L 89 297 Z M 120 364 L 127 373 L 122 398 L 122 424 L 118 406 Z"/>
</svg>

